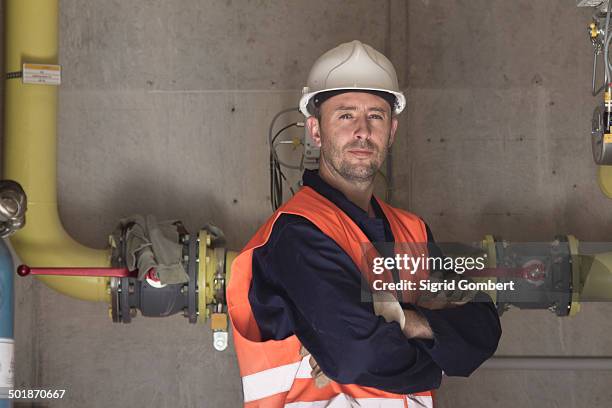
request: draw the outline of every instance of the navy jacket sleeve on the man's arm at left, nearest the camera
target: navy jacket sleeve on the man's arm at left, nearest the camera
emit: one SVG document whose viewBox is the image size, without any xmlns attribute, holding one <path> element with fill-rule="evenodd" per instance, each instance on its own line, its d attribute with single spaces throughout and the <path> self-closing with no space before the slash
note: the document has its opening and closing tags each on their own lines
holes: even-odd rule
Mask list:
<svg viewBox="0 0 612 408">
<path fill-rule="evenodd" d="M 253 258 L 249 299 L 262 336 L 295 333 L 339 383 L 402 394 L 439 387 L 442 372 L 428 352 L 362 301 L 351 258 L 309 221 L 280 221 Z"/>
</svg>

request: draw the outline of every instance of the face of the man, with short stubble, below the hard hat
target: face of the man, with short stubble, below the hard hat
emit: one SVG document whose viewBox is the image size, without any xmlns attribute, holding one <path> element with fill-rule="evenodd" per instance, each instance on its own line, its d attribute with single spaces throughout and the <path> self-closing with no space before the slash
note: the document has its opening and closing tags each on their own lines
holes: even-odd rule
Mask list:
<svg viewBox="0 0 612 408">
<path fill-rule="evenodd" d="M 320 106 L 321 121 L 308 118 L 310 135 L 321 148 L 321 166 L 347 181 L 369 182 L 393 143 L 397 119 L 383 98 L 346 92 Z"/>
</svg>

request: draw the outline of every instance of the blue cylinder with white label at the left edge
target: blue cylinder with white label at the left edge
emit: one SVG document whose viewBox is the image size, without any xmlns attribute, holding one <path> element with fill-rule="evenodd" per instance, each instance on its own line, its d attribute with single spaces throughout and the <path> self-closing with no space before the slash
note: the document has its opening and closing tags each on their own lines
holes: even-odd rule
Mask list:
<svg viewBox="0 0 612 408">
<path fill-rule="evenodd" d="M 13 405 L 5 398 L 8 397 L 8 389 L 15 385 L 15 266 L 8 245 L 4 239 L 0 239 L 0 408 Z"/>
</svg>

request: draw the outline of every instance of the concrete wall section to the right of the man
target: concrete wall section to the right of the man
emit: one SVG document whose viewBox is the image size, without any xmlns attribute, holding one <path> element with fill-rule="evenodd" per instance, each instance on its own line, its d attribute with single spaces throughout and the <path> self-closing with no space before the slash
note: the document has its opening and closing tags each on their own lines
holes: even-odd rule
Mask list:
<svg viewBox="0 0 612 408">
<path fill-rule="evenodd" d="M 590 118 L 590 12 L 574 1 L 410 1 L 408 156 L 398 202 L 438 240 L 609 240 Z M 610 304 L 575 318 L 511 310 L 499 355 L 610 355 Z M 449 379 L 444 407 L 602 407 L 612 373 L 491 371 Z"/>
</svg>

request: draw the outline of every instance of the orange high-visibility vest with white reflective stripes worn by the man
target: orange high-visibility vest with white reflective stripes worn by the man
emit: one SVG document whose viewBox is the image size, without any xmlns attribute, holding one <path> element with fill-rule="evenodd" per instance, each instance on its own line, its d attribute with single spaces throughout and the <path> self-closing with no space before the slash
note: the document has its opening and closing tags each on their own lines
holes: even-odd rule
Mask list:
<svg viewBox="0 0 612 408">
<path fill-rule="evenodd" d="M 417 216 L 378 201 L 396 242 L 425 243 L 427 233 Z M 311 378 L 309 357 L 300 356 L 301 343 L 292 335 L 284 340 L 261 341 L 249 303 L 253 250 L 264 245 L 281 214 L 306 218 L 334 240 L 363 271 L 364 243 L 368 238 L 343 211 L 309 187 L 303 187 L 279 208 L 249 241 L 232 264 L 227 287 L 228 311 L 240 366 L 247 408 L 348 407 L 355 399 L 361 407 L 433 407 L 433 392 L 394 394 L 356 384 L 330 381 L 323 388 Z"/>
</svg>

